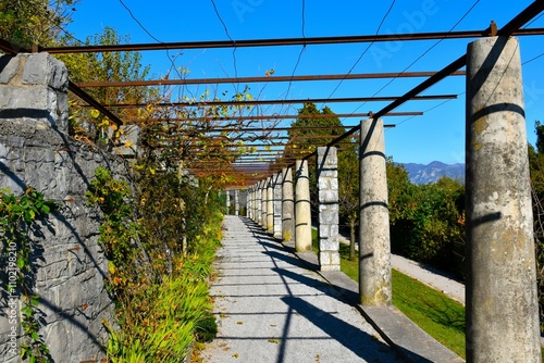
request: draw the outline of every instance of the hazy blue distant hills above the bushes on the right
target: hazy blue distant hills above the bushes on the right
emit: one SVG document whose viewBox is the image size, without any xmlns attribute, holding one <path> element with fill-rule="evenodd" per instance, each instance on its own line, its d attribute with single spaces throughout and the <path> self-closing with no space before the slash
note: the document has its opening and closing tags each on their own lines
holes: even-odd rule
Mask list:
<svg viewBox="0 0 544 363">
<path fill-rule="evenodd" d="M 413 184 L 434 183 L 443 176 L 465 183 L 465 164 L 444 164 L 440 161 L 433 161 L 428 165 L 415 163 L 401 163 L 400 165 L 404 165 L 410 182 Z"/>
</svg>

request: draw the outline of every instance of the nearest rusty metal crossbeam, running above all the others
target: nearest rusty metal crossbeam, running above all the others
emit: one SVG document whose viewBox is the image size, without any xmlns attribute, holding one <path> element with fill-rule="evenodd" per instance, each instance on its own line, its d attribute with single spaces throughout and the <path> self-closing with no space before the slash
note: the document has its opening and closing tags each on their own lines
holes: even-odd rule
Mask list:
<svg viewBox="0 0 544 363">
<path fill-rule="evenodd" d="M 210 40 L 210 41 L 174 41 L 160 43 L 135 43 L 111 46 L 72 46 L 72 47 L 38 47 L 38 51 L 54 53 L 90 53 L 90 52 L 120 52 L 147 51 L 172 49 L 211 49 L 211 48 L 248 48 L 248 47 L 277 47 L 277 46 L 314 46 L 338 45 L 399 40 L 431 40 L 431 39 L 460 39 L 479 38 L 490 34 L 490 28 L 483 30 L 433 32 L 412 34 L 358 35 L 341 37 L 304 37 L 284 39 L 239 39 L 239 40 Z M 512 29 L 511 35 L 544 34 L 544 28 Z"/>
</svg>

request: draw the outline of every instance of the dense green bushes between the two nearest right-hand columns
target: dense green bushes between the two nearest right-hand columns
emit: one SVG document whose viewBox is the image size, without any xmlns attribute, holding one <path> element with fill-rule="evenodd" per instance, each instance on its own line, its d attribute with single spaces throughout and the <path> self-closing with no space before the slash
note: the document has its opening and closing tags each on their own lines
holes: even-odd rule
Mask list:
<svg viewBox="0 0 544 363">
<path fill-rule="evenodd" d="M 465 276 L 465 187 L 448 177 L 412 185 L 387 161 L 392 251 Z"/>
</svg>

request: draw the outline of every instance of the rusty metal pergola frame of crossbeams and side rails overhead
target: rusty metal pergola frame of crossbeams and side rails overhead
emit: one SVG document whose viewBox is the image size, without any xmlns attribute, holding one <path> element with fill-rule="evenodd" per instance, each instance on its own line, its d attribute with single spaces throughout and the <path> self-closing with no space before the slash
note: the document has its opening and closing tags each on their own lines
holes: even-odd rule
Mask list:
<svg viewBox="0 0 544 363">
<path fill-rule="evenodd" d="M 157 50 L 172 50 L 172 49 L 203 49 L 203 48 L 247 48 L 247 47 L 277 47 L 277 46 L 314 46 L 314 45 L 339 45 L 339 43 L 361 43 L 361 42 L 383 42 L 383 41 L 410 41 L 410 40 L 430 40 L 430 39 L 461 39 L 461 38 L 479 38 L 486 36 L 531 36 L 531 35 L 544 35 L 544 28 L 532 28 L 532 29 L 521 29 L 523 25 L 534 18 L 539 13 L 544 10 L 544 1 L 534 1 L 528 5 L 523 11 L 516 15 L 510 22 L 508 22 L 502 28 L 498 28 L 494 22 L 491 23 L 490 27 L 483 30 L 460 30 L 460 32 L 436 32 L 436 33 L 418 33 L 418 34 L 393 34 L 393 35 L 360 35 L 360 36 L 346 36 L 346 37 L 310 37 L 310 38 L 285 38 L 285 39 L 255 39 L 255 40 L 222 40 L 222 41 L 191 41 L 191 42 L 161 42 L 161 43 L 135 43 L 135 45 L 113 45 L 113 46 L 74 46 L 74 47 L 40 47 L 34 46 L 33 49 L 24 49 L 15 47 L 5 40 L 0 39 L 0 50 L 10 53 L 17 54 L 22 52 L 39 52 L 45 51 L 51 54 L 60 53 L 83 53 L 83 52 L 126 52 L 126 51 L 157 51 Z M 177 86 L 177 85 L 199 85 L 199 84 L 243 84 L 243 83 L 273 83 L 273 82 L 318 82 L 318 80 L 348 80 L 348 79 L 376 79 L 376 78 L 407 78 L 407 77 L 424 77 L 425 79 L 419 85 L 407 91 L 401 96 L 387 96 L 387 97 L 353 97 L 353 98 L 310 98 L 310 99 L 280 99 L 280 100 L 232 100 L 232 101 L 187 101 L 187 102 L 172 102 L 172 103 L 159 103 L 153 104 L 154 108 L 191 108 L 191 107 L 248 107 L 248 105 L 264 105 L 264 104 L 304 104 L 304 103 L 330 103 L 330 102 L 390 102 L 387 105 L 383 107 L 375 113 L 353 113 L 353 114 L 320 114 L 320 115 L 281 115 L 281 114 L 256 114 L 256 115 L 240 115 L 234 117 L 178 117 L 178 118 L 149 118 L 139 122 L 150 122 L 150 123 L 193 123 L 196 121 L 207 121 L 214 122 L 215 125 L 212 127 L 203 128 L 203 132 L 208 133 L 209 137 L 212 137 L 213 133 L 273 133 L 273 132 L 286 132 L 290 128 L 288 127 L 234 127 L 234 126 L 222 126 L 221 123 L 228 122 L 242 122 L 242 121 L 271 121 L 271 120 L 289 120 L 289 118 L 311 118 L 311 117 L 370 117 L 376 121 L 383 116 L 395 116 L 395 115 L 420 115 L 421 112 L 393 112 L 400 105 L 405 104 L 411 100 L 437 100 L 437 99 L 454 99 L 456 95 L 426 95 L 421 96 L 424 90 L 429 89 L 431 86 L 441 82 L 442 79 L 449 76 L 463 76 L 466 73 L 460 71 L 466 65 L 466 54 L 460 55 L 452 63 L 443 67 L 437 72 L 396 72 L 396 73 L 375 73 L 375 74 L 336 74 L 336 75 L 301 75 L 301 76 L 267 76 L 267 77 L 224 77 L 224 78 L 183 78 L 183 79 L 148 79 L 148 80 L 136 80 L 136 82 L 88 82 L 74 84 L 69 82 L 69 90 L 81 98 L 85 104 L 81 107 L 94 108 L 101 112 L 111 122 L 121 126 L 124 124 L 118 115 L 115 115 L 112 109 L 129 109 L 129 108 L 143 108 L 147 107 L 145 103 L 123 103 L 123 104 L 101 104 L 96 101 L 92 97 L 87 93 L 84 88 L 91 87 L 156 87 L 156 86 Z M 129 120 L 126 123 L 134 123 L 134 120 Z M 326 146 L 333 147 L 347 138 L 351 137 L 359 130 L 359 126 L 349 126 L 350 128 L 341 136 L 334 136 Z M 189 125 L 187 128 L 190 128 Z M 195 128 L 198 129 L 198 128 Z M 310 129 L 310 128 L 307 128 Z M 312 129 L 316 129 L 312 127 Z M 333 129 L 329 127 L 329 129 Z M 187 130 L 189 132 L 189 130 Z M 220 137 L 218 135 L 215 137 Z M 332 135 L 330 135 L 333 137 Z M 325 138 L 319 136 L 320 138 Z M 254 137 L 255 138 L 255 137 Z M 254 138 L 247 138 L 246 140 L 252 140 Z M 277 136 L 274 139 L 281 139 Z M 244 137 L 235 138 L 236 140 L 244 140 Z M 257 148 L 258 143 L 255 143 Z M 258 148 L 269 148 L 271 146 L 281 147 L 282 143 L 262 143 Z M 284 145 L 284 143 L 283 143 Z M 247 145 L 251 147 L 251 143 Z M 233 146 L 236 147 L 236 146 Z M 259 150 L 267 151 L 267 150 Z M 272 153 L 271 153 L 272 154 Z M 259 155 L 259 153 L 256 153 Z M 306 153 L 304 159 L 310 159 L 316 155 L 316 152 Z M 212 155 L 208 155 L 212 157 Z M 268 158 L 268 155 L 267 155 Z M 262 160 L 262 155 L 258 159 Z M 203 162 L 203 161 L 202 161 Z M 210 161 L 213 162 L 213 161 Z M 219 161 L 218 161 L 219 162 Z M 255 160 L 251 157 L 245 157 L 243 160 L 238 161 L 244 163 L 248 167 L 248 172 L 244 173 L 246 180 L 256 180 L 251 174 L 264 173 L 264 164 L 282 164 L 285 165 L 289 161 L 279 161 L 276 159 L 270 159 L 265 162 Z M 197 164 L 195 164 L 197 165 Z M 202 164 L 203 165 L 203 164 Z M 254 165 L 254 168 L 251 168 Z M 290 166 L 287 164 L 286 166 Z M 231 163 L 233 168 L 240 166 L 236 162 Z M 246 166 L 244 166 L 245 168 Z M 255 173 L 250 173 L 254 170 Z M 224 168 L 223 168 L 224 171 Z M 197 174 L 206 173 L 203 168 L 195 167 Z M 210 172 L 210 171 L 208 171 Z M 218 172 L 218 171 L 213 171 Z M 230 171 L 228 171 L 230 172 Z M 210 172 L 211 173 L 211 172 Z M 264 177 L 264 174 L 261 176 Z M 270 171 L 269 173 L 270 174 Z"/>
</svg>

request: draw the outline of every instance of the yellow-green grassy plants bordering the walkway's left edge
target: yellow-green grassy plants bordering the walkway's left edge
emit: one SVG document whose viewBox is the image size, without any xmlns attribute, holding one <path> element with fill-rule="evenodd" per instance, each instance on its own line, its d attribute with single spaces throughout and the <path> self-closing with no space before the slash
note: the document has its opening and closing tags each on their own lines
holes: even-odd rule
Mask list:
<svg viewBox="0 0 544 363">
<path fill-rule="evenodd" d="M 193 251 L 173 259 L 172 275 L 163 275 L 124 303 L 122 331 L 111 329 L 112 362 L 181 362 L 199 342 L 214 338 L 207 278 L 221 238 L 221 214 L 203 225 Z"/>
</svg>

